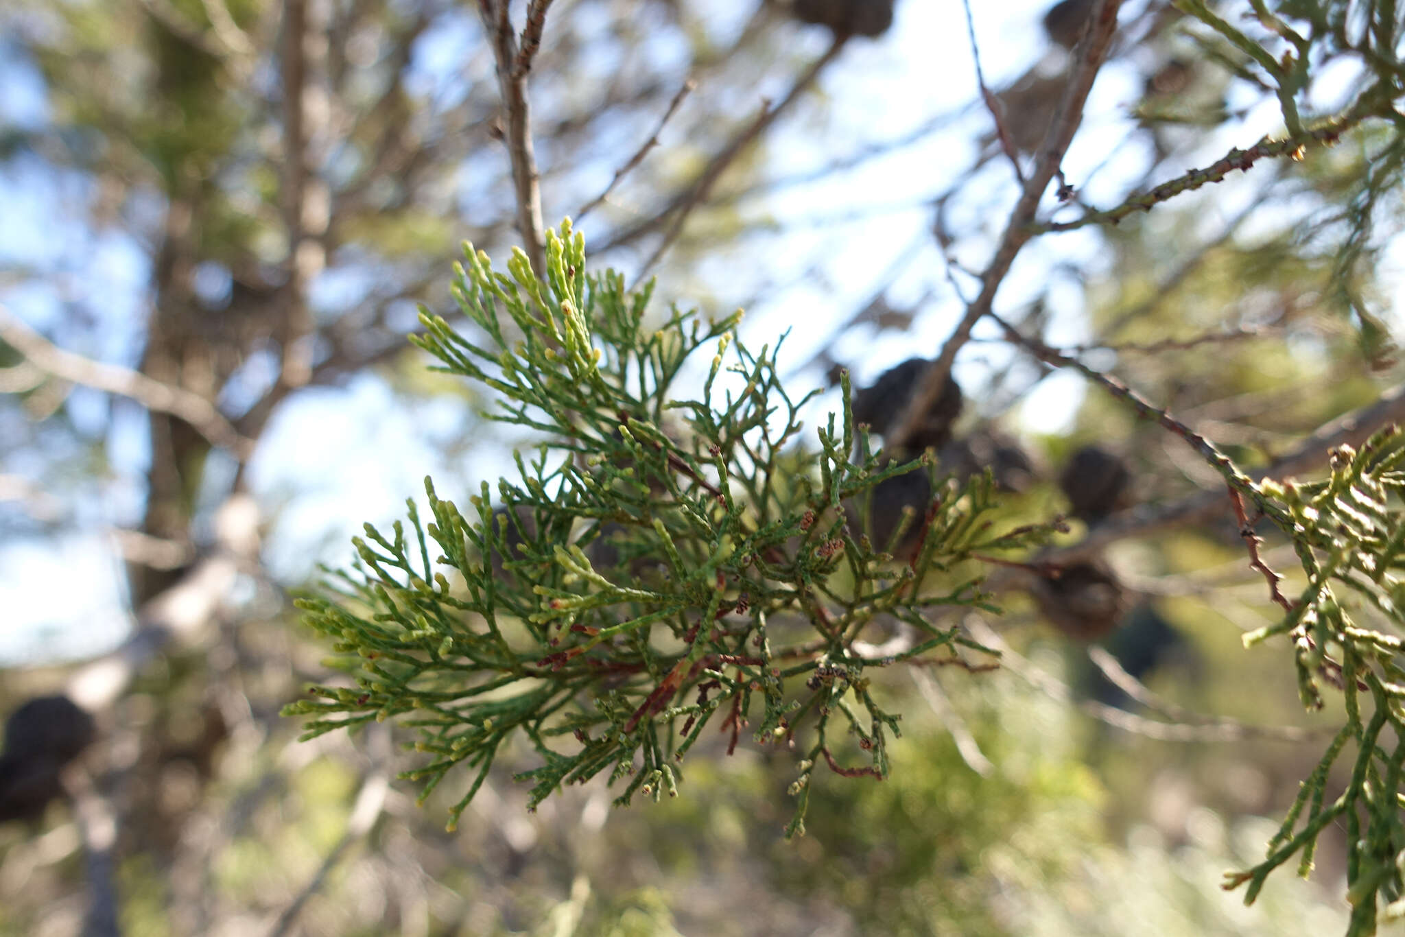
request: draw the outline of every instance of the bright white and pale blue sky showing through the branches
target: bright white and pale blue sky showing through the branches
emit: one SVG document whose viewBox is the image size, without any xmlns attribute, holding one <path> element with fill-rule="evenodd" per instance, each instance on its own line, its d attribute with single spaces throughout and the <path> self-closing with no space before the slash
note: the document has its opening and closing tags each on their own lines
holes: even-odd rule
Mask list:
<svg viewBox="0 0 1405 937">
<path fill-rule="evenodd" d="M 829 125 L 863 128 L 864 140 L 896 138 L 933 114 L 968 110 L 948 132 L 920 146 L 874 160 L 823 185 L 781 190 L 764 205 L 756 207 L 756 211 L 764 209 L 777 218 L 818 219 L 788 235 L 797 244 L 795 250 L 777 251 L 770 273 L 778 280 L 784 281 L 787 273 L 799 273 L 784 267 L 790 257 L 809 257 L 811 251 L 801 247 L 825 244 L 833 251 L 835 263 L 826 270 L 823 282 L 802 282 L 749 310 L 740 336 L 749 344 L 759 347 L 774 341 L 774 336 L 784 329 L 801 325 L 792 329 L 785 346 L 788 360 L 798 368 L 829 341 L 843 316 L 871 294 L 881 282 L 880 275 L 902 258 L 901 251 L 894 256 L 894 244 L 908 243 L 917 244 L 919 250 L 912 263 L 899 271 L 889 298 L 902 303 L 929 288 L 934 298 L 923 306 L 906 334 L 875 339 L 863 329 L 847 333 L 843 350 L 849 353 L 856 384 L 875 378 L 887 367 L 910 357 L 915 348 L 934 354 L 950 333 L 961 313 L 961 303 L 946 285 L 946 271 L 930 246 L 930 211 L 912 208 L 910 204 L 915 192 L 936 194 L 946 188 L 953 167 L 968 163 L 971 140 L 989 125 L 982 108 L 969 107 L 976 100 L 975 74 L 965 31 L 953 28 L 954 22 L 960 22 L 953 18 L 955 7 L 954 1 L 901 0 L 898 21 L 888 35 L 878 42 L 850 44 L 836 67 L 822 76 L 821 93 L 830 108 Z M 992 86 L 1009 83 L 1047 52 L 1038 28 L 1043 4 L 1023 0 L 979 3 L 972 4 L 972 14 L 982 66 Z M 719 20 L 718 28 L 726 28 L 725 21 Z M 447 21 L 426 34 L 410 66 L 426 93 L 447 93 L 443 89 L 450 84 L 444 74 L 458 67 L 465 44 L 473 42 L 475 37 L 475 30 L 462 21 Z M 818 55 L 828 42 L 828 34 L 811 30 L 801 41 Z M 658 55 L 669 53 L 667 48 L 658 51 Z M 1106 167 L 1093 170 L 1110 150 L 1125 143 L 1131 132 L 1125 105 L 1135 100 L 1138 87 L 1139 77 L 1131 66 L 1107 66 L 1090 97 L 1089 119 L 1065 159 L 1064 167 L 1071 178 L 1087 178 L 1085 194 L 1094 204 L 1111 204 L 1130 183 Z M 784 87 L 757 87 L 753 107 L 762 97 L 776 97 L 783 91 Z M 42 126 L 49 119 L 46 94 L 37 69 L 22 59 L 17 48 L 0 41 L 0 122 Z M 1276 108 L 1259 108 L 1234 128 L 1231 139 L 1213 140 L 1208 149 L 1218 146 L 1218 153 L 1222 153 L 1228 145 L 1245 146 L 1280 125 Z M 622 135 L 632 136 L 628 131 L 638 133 L 646 132 L 646 128 L 624 128 Z M 784 176 L 828 162 L 833 155 L 816 152 L 812 133 L 813 128 L 804 121 L 783 121 L 769 146 L 771 163 L 766 171 Z M 660 139 L 667 148 L 673 138 L 665 131 Z M 858 135 L 854 139 L 857 143 Z M 1200 156 L 1187 153 L 1186 159 L 1194 164 Z M 1007 191 L 1003 205 L 1010 205 L 1014 183 L 1007 171 L 1002 174 L 1002 169 L 1006 167 L 992 167 L 975 185 L 988 190 L 982 194 Z M 1252 187 L 1232 191 L 1238 197 L 1228 194 L 1207 208 L 1205 225 L 1210 230 L 1234 215 L 1236 198 L 1248 198 Z M 66 211 L 66 205 L 93 197 L 84 180 L 60 176 L 37 157 L 0 166 L 0 205 L 4 207 L 4 223 L 0 223 L 0 302 L 41 330 L 69 315 L 66 309 L 76 305 L 89 312 L 94 327 L 83 333 L 86 344 L 72 350 L 133 365 L 140 354 L 149 258 L 145 247 L 129 236 L 93 232 L 77 222 L 63 221 L 81 216 L 81 212 Z M 888 202 L 908 207 L 850 225 L 823 223 L 826 212 L 871 211 L 874 205 Z M 576 208 L 577 204 L 547 205 L 545 215 L 548 219 L 559 218 Z M 159 211 L 159 207 L 152 207 L 152 211 Z M 999 211 L 1006 212 L 1007 208 Z M 1002 225 L 1003 214 L 991 219 L 992 236 Z M 586 232 L 589 254 L 592 228 L 587 226 Z M 989 247 L 989 243 L 975 244 L 960 260 L 979 270 Z M 745 249 L 745 244 L 738 247 Z M 1089 337 L 1082 316 L 1082 289 L 1071 277 L 1058 273 L 1059 261 L 1075 261 L 1096 270 L 1106 258 L 1100 257 L 1099 239 L 1093 232 L 1062 235 L 1050 246 L 1037 244 L 1021 254 L 998 305 L 1017 308 L 1043 292 L 1044 284 L 1052 280 L 1050 301 L 1055 316 L 1050 339 L 1076 343 Z M 24 280 L 20 274 L 24 270 L 45 270 L 51 275 L 39 284 L 17 285 L 18 280 Z M 715 270 L 704 266 L 702 275 L 708 274 L 718 284 L 725 284 L 726 257 L 719 257 Z M 1394 295 L 1399 296 L 1405 289 L 1405 247 L 1398 243 L 1390 251 L 1388 275 Z M 322 291 L 332 296 L 339 289 L 358 288 L 355 282 L 336 281 L 334 277 L 329 274 L 327 281 L 315 287 L 315 294 Z M 967 278 L 968 288 L 969 282 Z M 669 285 L 660 284 L 659 295 L 670 296 Z M 717 292 L 726 295 L 722 285 Z M 687 305 L 687 296 L 679 295 L 677 299 Z M 1405 303 L 1397 303 L 1397 308 L 1402 306 Z M 729 309 L 704 312 L 725 315 Z M 1002 355 L 1007 354 L 1007 350 L 993 346 L 982 347 L 978 354 L 961 360 L 957 376 L 968 388 L 978 386 L 992 364 L 1000 364 Z M 813 385 L 821 376 L 816 369 L 799 371 L 797 382 Z M 1020 424 L 1044 433 L 1058 431 L 1072 419 L 1082 393 L 1079 378 L 1055 375 L 1044 382 L 1041 393 L 1023 406 Z M 107 531 L 133 524 L 140 517 L 143 493 L 139 479 L 148 458 L 145 421 L 133 405 L 118 402 L 110 410 L 100 395 L 83 389 L 76 389 L 63 406 L 79 427 L 94 431 L 101 430 L 111 413 L 114 428 L 108 433 L 105 452 L 108 471 L 100 492 L 67 504 L 70 523 L 63 525 L 60 535 L 35 531 L 0 542 L 0 607 L 7 610 L 7 620 L 0 624 L 0 666 L 101 653 L 119 642 L 131 627 L 124 570 Z M 462 433 L 462 400 L 447 398 L 419 402 L 412 413 L 406 399 L 371 372 L 357 375 L 344 386 L 309 389 L 289 399 L 271 420 L 250 466 L 251 487 L 270 520 L 266 539 L 270 569 L 292 584 L 311 575 L 318 561 L 346 562 L 351 556 L 348 539 L 360 532 L 361 524 L 385 524 L 402 517 L 405 499 L 423 496 L 426 473 L 434 475 L 438 489 L 445 492 L 455 486 L 476 490 L 479 479 L 495 479 L 509 472 L 510 462 L 490 447 L 479 447 L 466 459 L 445 452 L 443 441 Z M 836 406 L 835 393 L 822 398 L 809 424 L 822 419 L 823 410 Z M 393 452 L 395 458 L 385 458 L 386 452 Z M 79 455 L 74 454 L 74 458 Z M 329 464 L 337 465 L 339 471 L 323 471 L 322 466 Z M 0 450 L 0 475 L 27 476 L 34 471 L 22 447 Z M 214 490 L 221 473 L 211 475 Z M 42 479 L 35 480 L 42 483 Z M 15 507 L 0 503 L 0 510 Z M 53 596 L 63 596 L 65 600 L 56 603 Z"/>
</svg>

